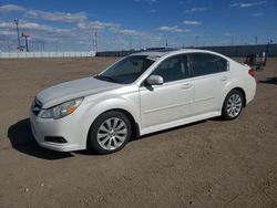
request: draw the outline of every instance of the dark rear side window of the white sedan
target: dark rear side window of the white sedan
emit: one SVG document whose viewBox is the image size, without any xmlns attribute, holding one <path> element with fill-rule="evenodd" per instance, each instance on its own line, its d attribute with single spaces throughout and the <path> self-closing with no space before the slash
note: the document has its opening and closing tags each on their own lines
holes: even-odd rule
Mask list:
<svg viewBox="0 0 277 208">
<path fill-rule="evenodd" d="M 227 60 L 208 53 L 192 53 L 191 62 L 194 76 L 202 76 L 227 71 Z"/>
</svg>

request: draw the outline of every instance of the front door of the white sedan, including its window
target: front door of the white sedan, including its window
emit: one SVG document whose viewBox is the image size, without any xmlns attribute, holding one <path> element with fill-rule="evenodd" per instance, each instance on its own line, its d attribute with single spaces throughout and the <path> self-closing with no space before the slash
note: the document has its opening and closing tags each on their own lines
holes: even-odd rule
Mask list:
<svg viewBox="0 0 277 208">
<path fill-rule="evenodd" d="M 187 56 L 168 58 L 152 74 L 161 75 L 164 84 L 140 87 L 142 127 L 155 127 L 192 115 L 194 81 L 189 77 Z"/>
</svg>

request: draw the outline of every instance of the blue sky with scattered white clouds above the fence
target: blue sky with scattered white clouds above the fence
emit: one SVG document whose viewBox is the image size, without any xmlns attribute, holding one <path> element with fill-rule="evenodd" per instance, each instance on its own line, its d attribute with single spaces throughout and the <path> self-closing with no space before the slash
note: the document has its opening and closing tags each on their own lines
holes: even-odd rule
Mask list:
<svg viewBox="0 0 277 208">
<path fill-rule="evenodd" d="M 0 0 L 0 50 L 17 48 L 13 19 L 33 51 L 277 41 L 276 0 Z M 23 42 L 23 40 L 22 40 Z"/>
</svg>

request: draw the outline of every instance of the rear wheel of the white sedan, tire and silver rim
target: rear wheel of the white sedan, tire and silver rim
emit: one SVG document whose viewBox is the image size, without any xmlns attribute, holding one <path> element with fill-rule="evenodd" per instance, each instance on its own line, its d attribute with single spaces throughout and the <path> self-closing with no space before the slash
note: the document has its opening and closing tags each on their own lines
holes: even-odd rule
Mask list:
<svg viewBox="0 0 277 208">
<path fill-rule="evenodd" d="M 223 104 L 222 117 L 226 121 L 235 119 L 239 116 L 244 107 L 244 96 L 237 91 L 230 91 Z"/>
</svg>

